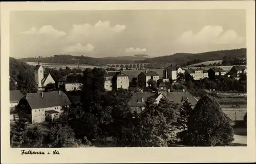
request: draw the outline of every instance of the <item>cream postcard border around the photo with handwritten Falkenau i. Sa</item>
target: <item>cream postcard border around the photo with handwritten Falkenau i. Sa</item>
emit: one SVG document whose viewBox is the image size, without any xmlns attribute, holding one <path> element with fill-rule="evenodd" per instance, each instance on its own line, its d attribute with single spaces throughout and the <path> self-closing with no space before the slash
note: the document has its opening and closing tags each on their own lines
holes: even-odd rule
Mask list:
<svg viewBox="0 0 256 164">
<path fill-rule="evenodd" d="M 1 2 L 1 162 L 117 163 L 117 162 L 253 162 L 255 161 L 255 2 Z M 247 147 L 61 148 L 60 155 L 21 155 L 9 146 L 9 13 L 25 10 L 147 10 L 245 9 L 248 74 Z M 28 150 L 28 149 L 26 149 Z M 33 149 L 42 150 L 42 149 Z M 52 149 L 44 149 L 45 151 Z"/>
</svg>

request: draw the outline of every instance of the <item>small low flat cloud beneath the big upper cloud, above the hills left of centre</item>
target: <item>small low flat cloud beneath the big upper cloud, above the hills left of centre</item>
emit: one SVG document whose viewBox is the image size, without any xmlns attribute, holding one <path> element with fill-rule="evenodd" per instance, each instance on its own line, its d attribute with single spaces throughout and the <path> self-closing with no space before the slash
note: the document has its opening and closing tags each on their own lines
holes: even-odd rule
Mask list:
<svg viewBox="0 0 256 164">
<path fill-rule="evenodd" d="M 86 46 L 83 46 L 81 43 L 77 43 L 75 45 L 70 45 L 63 49 L 66 53 L 71 52 L 92 52 L 94 50 L 94 46 L 91 44 L 87 44 Z"/>
</svg>

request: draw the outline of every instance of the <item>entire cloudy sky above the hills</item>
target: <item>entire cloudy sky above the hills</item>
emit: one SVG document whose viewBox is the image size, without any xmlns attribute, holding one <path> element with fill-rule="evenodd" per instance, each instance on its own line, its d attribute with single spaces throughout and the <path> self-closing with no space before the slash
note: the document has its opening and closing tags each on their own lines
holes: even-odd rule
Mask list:
<svg viewBox="0 0 256 164">
<path fill-rule="evenodd" d="M 10 15 L 10 56 L 95 58 L 246 47 L 244 10 L 23 11 Z"/>
</svg>

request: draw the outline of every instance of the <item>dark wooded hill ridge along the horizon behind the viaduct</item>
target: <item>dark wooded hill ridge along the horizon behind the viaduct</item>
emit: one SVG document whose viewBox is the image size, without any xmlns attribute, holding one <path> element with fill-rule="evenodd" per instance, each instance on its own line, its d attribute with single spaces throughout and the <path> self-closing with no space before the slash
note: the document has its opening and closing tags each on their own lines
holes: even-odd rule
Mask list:
<svg viewBox="0 0 256 164">
<path fill-rule="evenodd" d="M 94 66 L 105 66 L 106 64 L 117 64 L 117 63 L 154 63 L 164 64 L 173 63 L 181 66 L 197 64 L 205 61 L 215 61 L 223 59 L 243 59 L 246 58 L 246 48 L 231 49 L 231 50 L 218 50 L 203 53 L 175 53 L 169 56 L 162 56 L 156 58 L 148 58 L 144 60 L 135 61 L 133 59 L 123 58 L 92 58 L 85 56 L 72 56 L 70 54 L 60 54 L 53 57 L 47 58 L 23 58 L 20 59 L 24 62 L 42 62 L 42 63 L 65 63 L 65 64 L 77 64 L 78 60 L 80 64 L 94 65 Z"/>
</svg>

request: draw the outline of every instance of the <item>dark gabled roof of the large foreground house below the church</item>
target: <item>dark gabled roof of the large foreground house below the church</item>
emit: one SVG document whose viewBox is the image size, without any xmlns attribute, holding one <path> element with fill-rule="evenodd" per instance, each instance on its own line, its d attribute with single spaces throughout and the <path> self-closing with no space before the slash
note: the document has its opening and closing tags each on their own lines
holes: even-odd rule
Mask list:
<svg viewBox="0 0 256 164">
<path fill-rule="evenodd" d="M 71 104 L 68 96 L 62 91 L 42 92 L 42 95 L 41 93 L 27 93 L 24 99 L 28 101 L 32 109 Z"/>
</svg>

